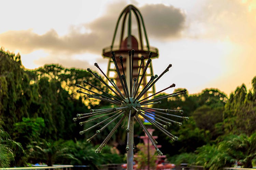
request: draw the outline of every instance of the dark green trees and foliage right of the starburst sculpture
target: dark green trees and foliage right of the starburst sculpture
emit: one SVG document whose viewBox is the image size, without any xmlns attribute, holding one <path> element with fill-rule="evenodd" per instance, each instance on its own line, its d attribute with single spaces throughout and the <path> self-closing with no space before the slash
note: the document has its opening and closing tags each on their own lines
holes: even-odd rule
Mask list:
<svg viewBox="0 0 256 170">
<path fill-rule="evenodd" d="M 256 166 L 256 77 L 252 79 L 251 90 L 242 84 L 229 99 L 217 89 L 205 89 L 200 94 L 177 96 L 163 104 L 170 109 L 179 107 L 189 117 L 179 128 L 174 126 L 172 133 L 179 137 L 178 141 L 169 140 L 168 146 L 167 141 L 159 140 L 163 151 L 171 156 L 170 162 L 209 169 Z"/>
</svg>

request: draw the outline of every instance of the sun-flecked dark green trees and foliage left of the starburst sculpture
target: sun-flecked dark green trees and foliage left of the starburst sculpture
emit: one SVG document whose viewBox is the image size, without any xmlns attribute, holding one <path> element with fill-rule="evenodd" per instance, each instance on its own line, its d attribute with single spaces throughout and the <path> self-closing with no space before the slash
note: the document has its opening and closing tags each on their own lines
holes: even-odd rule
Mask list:
<svg viewBox="0 0 256 170">
<path fill-rule="evenodd" d="M 41 162 L 48 166 L 72 164 L 96 168 L 124 162 L 122 156 L 111 154 L 110 147 L 105 147 L 101 155 L 94 152 L 94 145 L 112 126 L 93 143 L 85 142 L 93 132 L 79 135 L 89 124 L 80 126 L 73 122 L 75 115 L 107 104 L 80 97 L 75 85 L 84 80 L 108 91 L 85 70 L 59 65 L 28 70 L 19 54 L 0 50 L 0 167 Z"/>
</svg>

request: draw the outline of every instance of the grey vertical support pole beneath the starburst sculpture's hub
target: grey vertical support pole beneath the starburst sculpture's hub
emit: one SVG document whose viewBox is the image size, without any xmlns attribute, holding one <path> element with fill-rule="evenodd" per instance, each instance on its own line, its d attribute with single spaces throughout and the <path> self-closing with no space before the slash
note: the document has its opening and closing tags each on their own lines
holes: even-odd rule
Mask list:
<svg viewBox="0 0 256 170">
<path fill-rule="evenodd" d="M 133 119 L 131 117 L 130 121 L 130 131 L 129 131 L 129 150 L 127 151 L 127 170 L 133 170 Z"/>
</svg>

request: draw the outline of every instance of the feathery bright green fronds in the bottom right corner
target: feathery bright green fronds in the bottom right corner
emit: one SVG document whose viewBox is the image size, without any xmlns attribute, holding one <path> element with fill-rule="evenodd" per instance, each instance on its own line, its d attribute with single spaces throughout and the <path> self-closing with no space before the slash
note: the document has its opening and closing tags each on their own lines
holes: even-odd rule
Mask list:
<svg viewBox="0 0 256 170">
<path fill-rule="evenodd" d="M 236 161 L 244 168 L 252 168 L 256 157 L 256 133 L 247 137 L 227 135 L 219 137 L 216 145 L 204 145 L 196 150 L 196 165 L 203 165 L 210 170 L 231 167 Z"/>
</svg>

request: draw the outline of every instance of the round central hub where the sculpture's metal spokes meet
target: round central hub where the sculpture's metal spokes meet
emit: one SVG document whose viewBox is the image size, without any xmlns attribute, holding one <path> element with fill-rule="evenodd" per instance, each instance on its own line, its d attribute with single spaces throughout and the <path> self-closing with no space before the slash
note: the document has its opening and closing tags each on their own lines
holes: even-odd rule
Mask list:
<svg viewBox="0 0 256 170">
<path fill-rule="evenodd" d="M 133 108 L 136 108 L 138 111 L 140 110 L 140 103 L 138 100 L 135 100 L 133 97 L 130 97 L 129 99 L 126 98 L 125 101 L 122 102 L 120 107 L 122 108 L 122 111 L 125 111 L 125 115 L 129 116 L 130 110 L 131 110 L 131 116 L 135 116 L 137 111 Z"/>
</svg>

